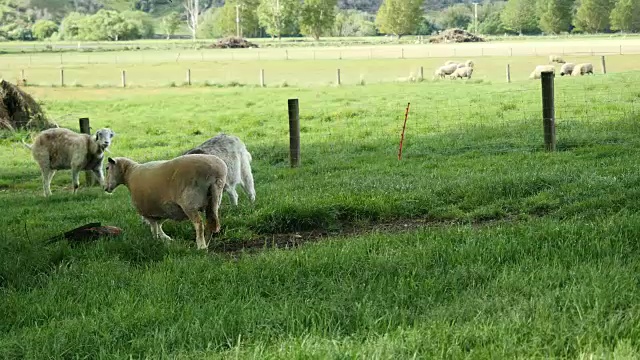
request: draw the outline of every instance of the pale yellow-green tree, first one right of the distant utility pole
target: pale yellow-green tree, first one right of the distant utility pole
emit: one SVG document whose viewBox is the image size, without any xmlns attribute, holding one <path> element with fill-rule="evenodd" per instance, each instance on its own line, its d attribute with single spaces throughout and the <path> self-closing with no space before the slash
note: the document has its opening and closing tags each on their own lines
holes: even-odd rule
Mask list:
<svg viewBox="0 0 640 360">
<path fill-rule="evenodd" d="M 260 0 L 258 21 L 271 37 L 296 34 L 298 31 L 299 0 Z"/>
</svg>

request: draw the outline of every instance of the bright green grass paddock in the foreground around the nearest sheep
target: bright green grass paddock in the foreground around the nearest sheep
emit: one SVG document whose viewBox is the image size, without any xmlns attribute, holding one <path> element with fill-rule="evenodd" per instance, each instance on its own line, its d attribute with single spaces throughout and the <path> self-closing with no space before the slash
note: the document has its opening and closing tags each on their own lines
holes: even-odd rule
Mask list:
<svg viewBox="0 0 640 360">
<path fill-rule="evenodd" d="M 110 156 L 238 135 L 257 201 L 225 195 L 208 254 L 189 223 L 164 244 L 126 188 L 72 196 L 60 171 L 44 199 L 27 134 L 3 133 L 0 357 L 636 358 L 638 81 L 558 77 L 555 153 L 539 81 L 28 88 L 61 126 L 114 129 Z M 92 221 L 124 235 L 43 245 Z"/>
</svg>

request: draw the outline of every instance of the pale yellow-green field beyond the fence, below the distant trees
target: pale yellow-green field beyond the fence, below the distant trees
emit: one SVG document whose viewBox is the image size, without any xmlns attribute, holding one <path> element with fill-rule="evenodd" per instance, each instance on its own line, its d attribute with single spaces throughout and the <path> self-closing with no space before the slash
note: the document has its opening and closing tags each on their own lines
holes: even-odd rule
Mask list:
<svg viewBox="0 0 640 360">
<path fill-rule="evenodd" d="M 589 39 L 589 38 L 587 38 Z M 158 42 L 158 44 L 161 44 Z M 133 45 L 132 45 L 133 46 Z M 622 53 L 623 55 L 620 55 Z M 556 39 L 473 44 L 382 44 L 348 47 L 289 47 L 259 49 L 141 49 L 137 51 L 74 51 L 15 53 L 0 56 L 0 76 L 22 76 L 34 86 L 116 87 L 126 71 L 128 87 L 181 86 L 187 70 L 195 86 L 257 86 L 264 70 L 267 87 L 308 87 L 337 83 L 379 83 L 432 79 L 446 60 L 473 59 L 474 78 L 505 82 L 506 66 L 513 81 L 525 80 L 548 55 L 564 55 L 570 62 L 591 62 L 601 72 L 606 56 L 608 72 L 640 70 L 640 38 Z M 556 66 L 558 69 L 559 65 Z"/>
</svg>

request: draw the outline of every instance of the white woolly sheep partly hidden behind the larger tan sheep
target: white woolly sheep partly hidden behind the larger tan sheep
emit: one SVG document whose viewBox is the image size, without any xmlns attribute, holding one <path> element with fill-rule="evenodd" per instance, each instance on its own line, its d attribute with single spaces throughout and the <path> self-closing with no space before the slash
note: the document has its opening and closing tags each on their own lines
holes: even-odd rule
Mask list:
<svg viewBox="0 0 640 360">
<path fill-rule="evenodd" d="M 238 205 L 237 185 L 240 185 L 249 195 L 251 202 L 256 201 L 253 174 L 251 173 L 251 154 L 237 136 L 220 133 L 183 155 L 187 154 L 216 155 L 227 164 L 228 171 L 224 189 L 229 194 L 233 205 Z"/>
</svg>

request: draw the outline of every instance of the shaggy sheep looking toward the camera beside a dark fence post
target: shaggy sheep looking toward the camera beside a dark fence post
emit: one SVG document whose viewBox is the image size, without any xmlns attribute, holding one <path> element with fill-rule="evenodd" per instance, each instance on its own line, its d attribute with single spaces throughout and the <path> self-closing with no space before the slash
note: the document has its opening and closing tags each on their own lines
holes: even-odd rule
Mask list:
<svg viewBox="0 0 640 360">
<path fill-rule="evenodd" d="M 51 128 L 40 132 L 31 145 L 22 140 L 40 165 L 44 196 L 51 195 L 51 180 L 57 170 L 71 169 L 73 194 L 78 192 L 81 171 L 91 171 L 100 185 L 104 186 L 102 160 L 115 135 L 108 128 L 100 129 L 94 135 L 80 134 L 66 128 Z"/>
</svg>

